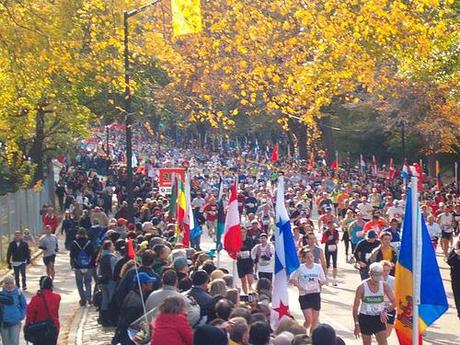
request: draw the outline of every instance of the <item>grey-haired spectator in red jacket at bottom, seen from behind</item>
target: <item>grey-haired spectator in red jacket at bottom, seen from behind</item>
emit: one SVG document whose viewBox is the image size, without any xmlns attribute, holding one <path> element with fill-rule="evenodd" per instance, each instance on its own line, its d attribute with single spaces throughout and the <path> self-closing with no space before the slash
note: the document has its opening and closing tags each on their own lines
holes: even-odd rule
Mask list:
<svg viewBox="0 0 460 345">
<path fill-rule="evenodd" d="M 167 297 L 152 322 L 152 345 L 192 345 L 193 331 L 187 323 L 186 303 L 180 296 Z"/>
</svg>

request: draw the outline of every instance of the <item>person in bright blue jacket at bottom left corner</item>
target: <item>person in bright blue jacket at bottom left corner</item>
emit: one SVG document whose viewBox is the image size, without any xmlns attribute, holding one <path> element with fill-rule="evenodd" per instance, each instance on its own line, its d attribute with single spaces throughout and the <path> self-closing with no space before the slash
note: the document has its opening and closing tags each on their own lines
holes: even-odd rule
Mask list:
<svg viewBox="0 0 460 345">
<path fill-rule="evenodd" d="M 12 304 L 2 306 L 1 334 L 3 344 L 19 345 L 19 332 L 21 331 L 21 321 L 26 316 L 27 302 L 15 286 L 14 278 L 7 275 L 3 279 L 3 290 L 0 292 L 1 300 L 11 298 Z"/>
</svg>

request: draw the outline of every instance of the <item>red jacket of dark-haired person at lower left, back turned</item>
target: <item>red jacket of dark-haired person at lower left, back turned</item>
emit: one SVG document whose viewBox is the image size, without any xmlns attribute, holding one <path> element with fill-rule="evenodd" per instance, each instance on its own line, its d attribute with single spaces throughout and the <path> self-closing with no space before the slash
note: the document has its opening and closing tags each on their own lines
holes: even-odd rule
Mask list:
<svg viewBox="0 0 460 345">
<path fill-rule="evenodd" d="M 48 306 L 51 321 L 56 325 L 59 333 L 59 304 L 61 303 L 61 296 L 48 289 L 40 290 L 40 294 L 42 296 L 33 296 L 27 305 L 26 325 L 48 319 L 48 313 L 43 304 L 44 298 Z"/>
</svg>

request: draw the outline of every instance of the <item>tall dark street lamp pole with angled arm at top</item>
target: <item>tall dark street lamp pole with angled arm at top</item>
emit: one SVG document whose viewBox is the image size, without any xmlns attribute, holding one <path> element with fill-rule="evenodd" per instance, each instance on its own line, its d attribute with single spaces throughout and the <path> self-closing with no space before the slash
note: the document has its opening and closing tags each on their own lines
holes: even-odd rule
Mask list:
<svg viewBox="0 0 460 345">
<path fill-rule="evenodd" d="M 129 85 L 129 18 L 145 11 L 150 6 L 157 4 L 159 0 L 152 1 L 144 6 L 131 11 L 123 12 L 123 23 L 125 28 L 124 38 L 124 59 L 125 59 L 125 112 L 126 112 L 126 169 L 128 179 L 126 181 L 126 193 L 128 201 L 128 220 L 134 222 L 134 195 L 133 195 L 133 142 L 132 124 L 133 113 L 131 112 L 131 88 Z"/>
</svg>

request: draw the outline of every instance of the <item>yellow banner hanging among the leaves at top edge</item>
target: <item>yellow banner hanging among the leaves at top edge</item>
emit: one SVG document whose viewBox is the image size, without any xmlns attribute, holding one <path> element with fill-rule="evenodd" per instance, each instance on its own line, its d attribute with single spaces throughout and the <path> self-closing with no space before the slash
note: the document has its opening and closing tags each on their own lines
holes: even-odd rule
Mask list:
<svg viewBox="0 0 460 345">
<path fill-rule="evenodd" d="M 171 0 L 171 13 L 174 36 L 201 31 L 201 0 Z"/>
</svg>

